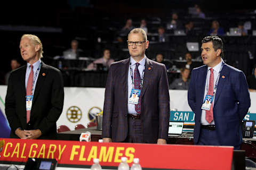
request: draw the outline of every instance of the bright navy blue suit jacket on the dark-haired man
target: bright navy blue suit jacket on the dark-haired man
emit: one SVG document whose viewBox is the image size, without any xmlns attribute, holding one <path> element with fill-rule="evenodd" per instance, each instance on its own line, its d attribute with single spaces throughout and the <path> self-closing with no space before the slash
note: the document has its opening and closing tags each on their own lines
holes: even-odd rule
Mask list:
<svg viewBox="0 0 256 170">
<path fill-rule="evenodd" d="M 200 134 L 206 75 L 207 65 L 193 69 L 188 89 L 188 104 L 195 113 L 194 143 L 198 142 Z M 241 122 L 250 106 L 250 94 L 244 73 L 225 63 L 220 73 L 213 106 L 220 145 L 241 145 Z"/>
</svg>

